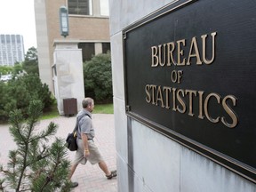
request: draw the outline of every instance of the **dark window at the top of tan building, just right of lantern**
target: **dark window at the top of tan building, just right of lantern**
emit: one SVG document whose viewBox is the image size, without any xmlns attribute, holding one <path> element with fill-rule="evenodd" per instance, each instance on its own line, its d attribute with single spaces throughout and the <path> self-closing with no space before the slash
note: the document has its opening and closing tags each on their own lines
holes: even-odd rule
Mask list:
<svg viewBox="0 0 256 192">
<path fill-rule="evenodd" d="M 68 0 L 68 14 L 92 15 L 92 0 Z"/>
</svg>

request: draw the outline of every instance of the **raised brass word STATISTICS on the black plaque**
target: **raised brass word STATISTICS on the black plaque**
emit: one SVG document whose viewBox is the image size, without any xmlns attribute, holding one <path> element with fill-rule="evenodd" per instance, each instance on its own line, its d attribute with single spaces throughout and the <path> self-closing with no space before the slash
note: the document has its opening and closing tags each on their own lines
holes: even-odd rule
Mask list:
<svg viewBox="0 0 256 192">
<path fill-rule="evenodd" d="M 198 113 L 197 118 L 204 119 L 206 117 L 205 119 L 213 124 L 222 123 L 228 128 L 234 128 L 238 124 L 238 117 L 234 109 L 230 107 L 230 105 L 236 107 L 237 99 L 233 95 L 227 95 L 222 100 L 219 94 L 211 92 L 204 99 L 204 91 L 183 90 L 169 86 L 162 87 L 156 84 L 147 84 L 145 86 L 145 92 L 146 102 L 152 105 L 159 105 L 161 108 L 166 109 L 172 108 L 173 111 L 178 111 L 181 114 L 185 114 L 188 108 L 188 116 L 195 116 Z M 210 114 L 210 101 L 214 102 L 211 106 L 222 107 L 227 115 L 213 117 Z M 172 107 L 171 103 L 173 105 Z M 194 108 L 194 103 L 198 103 L 198 108 Z M 196 109 L 197 111 L 194 111 Z"/>
</svg>

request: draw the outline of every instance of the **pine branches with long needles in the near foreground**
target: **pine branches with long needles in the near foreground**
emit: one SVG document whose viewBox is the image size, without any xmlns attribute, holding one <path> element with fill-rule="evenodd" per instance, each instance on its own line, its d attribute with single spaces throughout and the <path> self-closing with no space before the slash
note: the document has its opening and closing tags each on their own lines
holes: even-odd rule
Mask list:
<svg viewBox="0 0 256 192">
<path fill-rule="evenodd" d="M 58 125 L 51 122 L 44 130 L 36 128 L 42 109 L 40 100 L 32 100 L 27 119 L 24 120 L 20 109 L 13 110 L 10 115 L 10 132 L 17 149 L 9 152 L 7 167 L 1 166 L 1 171 L 4 172 L 4 183 L 16 192 L 70 190 L 70 162 L 64 141 L 56 138 L 51 146 L 47 145 Z M 0 189 L 2 183 L 0 180 Z"/>
</svg>

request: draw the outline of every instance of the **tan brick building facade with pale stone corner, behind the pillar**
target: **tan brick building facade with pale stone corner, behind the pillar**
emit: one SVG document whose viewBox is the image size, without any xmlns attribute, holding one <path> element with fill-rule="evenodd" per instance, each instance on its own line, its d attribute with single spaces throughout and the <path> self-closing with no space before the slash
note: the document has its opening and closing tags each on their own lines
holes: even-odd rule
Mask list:
<svg viewBox="0 0 256 192">
<path fill-rule="evenodd" d="M 55 43 L 77 43 L 83 61 L 110 49 L 108 1 L 35 0 L 39 74 L 53 92 L 52 65 Z M 59 10 L 68 8 L 68 36 L 60 36 Z"/>
</svg>

